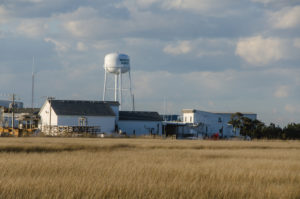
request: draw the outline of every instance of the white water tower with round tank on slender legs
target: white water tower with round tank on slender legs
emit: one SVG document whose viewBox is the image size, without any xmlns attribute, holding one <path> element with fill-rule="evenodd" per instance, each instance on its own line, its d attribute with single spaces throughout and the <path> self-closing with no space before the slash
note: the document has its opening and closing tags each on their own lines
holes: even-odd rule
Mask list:
<svg viewBox="0 0 300 199">
<path fill-rule="evenodd" d="M 103 101 L 107 100 L 107 90 L 114 90 L 114 101 L 120 103 L 120 110 L 122 109 L 122 92 L 129 91 L 130 101 L 133 105 L 133 95 L 131 91 L 131 76 L 130 76 L 130 59 L 126 54 L 110 53 L 104 57 L 104 89 L 103 89 Z M 122 76 L 127 73 L 129 80 L 129 88 L 123 88 Z M 108 75 L 114 75 L 114 88 L 107 88 Z M 134 109 L 134 108 L 133 108 Z"/>
</svg>

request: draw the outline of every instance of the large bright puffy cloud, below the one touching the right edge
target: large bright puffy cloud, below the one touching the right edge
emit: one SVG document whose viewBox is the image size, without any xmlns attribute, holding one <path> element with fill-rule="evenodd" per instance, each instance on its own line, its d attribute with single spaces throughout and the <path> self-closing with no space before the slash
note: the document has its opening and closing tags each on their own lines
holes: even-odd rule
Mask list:
<svg viewBox="0 0 300 199">
<path fill-rule="evenodd" d="M 236 55 L 252 65 L 264 66 L 284 58 L 283 42 L 278 38 L 261 36 L 240 39 Z"/>
</svg>

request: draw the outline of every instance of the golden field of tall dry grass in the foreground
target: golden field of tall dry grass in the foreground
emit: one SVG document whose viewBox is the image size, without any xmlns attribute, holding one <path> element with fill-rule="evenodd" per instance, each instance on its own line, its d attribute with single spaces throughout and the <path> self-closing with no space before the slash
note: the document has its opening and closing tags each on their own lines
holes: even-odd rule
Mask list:
<svg viewBox="0 0 300 199">
<path fill-rule="evenodd" d="M 300 198 L 299 141 L 0 138 L 0 198 Z"/>
</svg>

